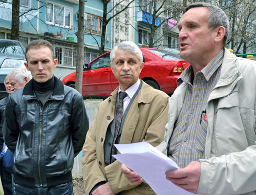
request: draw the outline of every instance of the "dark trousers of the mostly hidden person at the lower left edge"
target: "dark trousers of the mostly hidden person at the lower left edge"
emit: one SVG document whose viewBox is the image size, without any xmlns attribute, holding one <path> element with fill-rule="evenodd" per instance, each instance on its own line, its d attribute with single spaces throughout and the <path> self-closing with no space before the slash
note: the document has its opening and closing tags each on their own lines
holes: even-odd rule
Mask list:
<svg viewBox="0 0 256 195">
<path fill-rule="evenodd" d="M 12 175 L 5 169 L 4 163 L 0 160 L 1 182 L 5 195 L 12 195 Z"/>
</svg>

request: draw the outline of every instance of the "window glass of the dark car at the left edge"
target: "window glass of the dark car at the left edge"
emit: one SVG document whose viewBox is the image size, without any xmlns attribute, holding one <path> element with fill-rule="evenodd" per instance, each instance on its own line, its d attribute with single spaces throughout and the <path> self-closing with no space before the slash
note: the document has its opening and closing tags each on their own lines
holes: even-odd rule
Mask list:
<svg viewBox="0 0 256 195">
<path fill-rule="evenodd" d="M 0 53 L 25 55 L 22 47 L 15 41 L 0 41 Z"/>
</svg>

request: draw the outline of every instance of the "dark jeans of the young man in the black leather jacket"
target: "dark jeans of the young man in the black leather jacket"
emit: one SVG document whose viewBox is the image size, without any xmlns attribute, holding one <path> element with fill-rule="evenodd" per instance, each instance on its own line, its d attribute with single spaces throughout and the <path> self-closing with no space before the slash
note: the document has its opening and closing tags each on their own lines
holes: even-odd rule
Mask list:
<svg viewBox="0 0 256 195">
<path fill-rule="evenodd" d="M 73 182 L 52 187 L 28 187 L 14 183 L 13 195 L 73 195 Z"/>
</svg>

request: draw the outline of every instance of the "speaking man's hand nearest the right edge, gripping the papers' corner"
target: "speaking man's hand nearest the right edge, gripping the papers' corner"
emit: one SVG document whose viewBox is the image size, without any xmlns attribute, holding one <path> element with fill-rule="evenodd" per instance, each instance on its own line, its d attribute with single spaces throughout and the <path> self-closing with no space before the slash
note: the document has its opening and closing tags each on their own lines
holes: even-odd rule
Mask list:
<svg viewBox="0 0 256 195">
<path fill-rule="evenodd" d="M 185 168 L 165 172 L 167 180 L 193 193 L 197 193 L 200 174 L 201 163 L 198 161 L 190 162 Z"/>
</svg>

